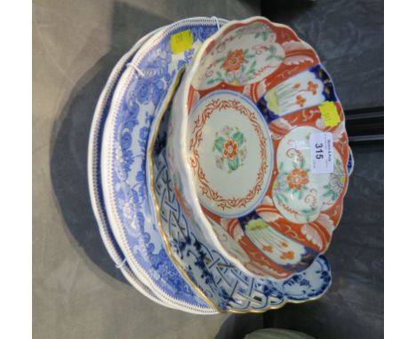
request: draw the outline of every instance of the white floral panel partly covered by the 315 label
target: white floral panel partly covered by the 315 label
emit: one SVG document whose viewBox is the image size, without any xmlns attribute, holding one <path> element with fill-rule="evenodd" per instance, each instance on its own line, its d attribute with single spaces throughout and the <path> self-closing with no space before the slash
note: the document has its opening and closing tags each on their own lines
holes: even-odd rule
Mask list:
<svg viewBox="0 0 416 339">
<path fill-rule="evenodd" d="M 333 151 L 332 173 L 312 173 L 309 170 L 308 138 L 316 132 L 321 130 L 309 126 L 294 129 L 284 136 L 277 148 L 276 167 L 280 171 L 274 183 L 273 199 L 278 211 L 293 223 L 315 221 L 321 211 L 333 206 L 345 184 L 346 173 L 336 150 Z M 289 176 L 296 181 L 291 181 Z"/>
</svg>

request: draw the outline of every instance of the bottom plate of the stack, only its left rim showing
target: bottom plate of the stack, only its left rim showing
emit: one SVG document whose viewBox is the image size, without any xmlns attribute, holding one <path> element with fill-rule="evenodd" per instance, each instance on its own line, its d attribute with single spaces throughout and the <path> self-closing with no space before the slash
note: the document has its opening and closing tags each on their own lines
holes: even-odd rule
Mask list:
<svg viewBox="0 0 416 339">
<path fill-rule="evenodd" d="M 103 91 L 101 91 L 100 99 L 97 103 L 97 106 L 95 107 L 92 119 L 92 127 L 88 145 L 88 185 L 90 190 L 90 198 L 92 201 L 92 210 L 100 229 L 101 239 L 107 248 L 109 256 L 111 256 L 116 266 L 124 274 L 125 279 L 128 280 L 134 288 L 139 290 L 141 294 L 148 296 L 149 299 L 158 304 L 164 304 L 165 306 L 171 307 L 169 304 L 164 303 L 157 296 L 155 296 L 152 290 L 149 289 L 138 279 L 138 277 L 134 275 L 129 264 L 124 262 L 124 254 L 121 248 L 119 248 L 111 228 L 108 225 L 108 217 L 104 207 L 100 177 L 102 132 L 104 129 L 104 122 L 107 119 L 109 106 L 116 88 L 116 84 L 122 75 L 126 63 L 132 59 L 134 53 L 138 51 L 143 43 L 145 43 L 150 36 L 154 35 L 156 31 L 153 31 L 148 35 L 142 37 L 137 43 L 134 44 L 130 51 L 124 54 L 124 56 L 113 68 Z"/>
</svg>

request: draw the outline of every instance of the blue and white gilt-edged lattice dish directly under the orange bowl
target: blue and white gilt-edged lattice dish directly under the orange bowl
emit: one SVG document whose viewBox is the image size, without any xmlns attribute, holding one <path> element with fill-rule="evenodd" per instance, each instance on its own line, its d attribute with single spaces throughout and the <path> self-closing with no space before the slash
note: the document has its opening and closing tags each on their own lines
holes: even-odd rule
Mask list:
<svg viewBox="0 0 416 339">
<path fill-rule="evenodd" d="M 155 117 L 148 138 L 149 193 L 155 201 L 154 213 L 167 253 L 195 289 L 212 300 L 219 311 L 230 312 L 267 311 L 287 302 L 301 303 L 322 296 L 331 284 L 331 269 L 324 256 L 286 280 L 261 279 L 236 268 L 204 238 L 177 200 L 164 153 L 168 119 L 164 117 L 159 130 L 160 120 L 160 116 Z M 235 245 L 238 250 L 239 245 Z"/>
</svg>

